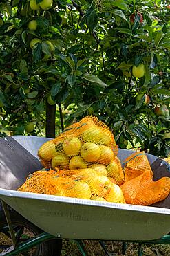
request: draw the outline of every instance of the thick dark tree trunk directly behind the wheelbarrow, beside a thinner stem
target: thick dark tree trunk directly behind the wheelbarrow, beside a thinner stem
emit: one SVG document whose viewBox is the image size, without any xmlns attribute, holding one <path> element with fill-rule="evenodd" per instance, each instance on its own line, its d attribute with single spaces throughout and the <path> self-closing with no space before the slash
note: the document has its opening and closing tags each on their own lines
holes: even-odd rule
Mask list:
<svg viewBox="0 0 170 256">
<path fill-rule="evenodd" d="M 46 137 L 47 138 L 55 138 L 56 128 L 56 104 L 50 105 L 46 102 Z"/>
</svg>

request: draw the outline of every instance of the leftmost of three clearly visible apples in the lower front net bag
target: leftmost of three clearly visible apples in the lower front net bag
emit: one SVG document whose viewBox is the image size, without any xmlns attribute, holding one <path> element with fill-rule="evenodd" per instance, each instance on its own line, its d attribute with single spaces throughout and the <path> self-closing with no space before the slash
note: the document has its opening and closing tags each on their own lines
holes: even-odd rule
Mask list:
<svg viewBox="0 0 170 256">
<path fill-rule="evenodd" d="M 67 196 L 90 199 L 92 192 L 89 185 L 85 181 L 75 181 L 74 187 L 68 190 Z"/>
</svg>

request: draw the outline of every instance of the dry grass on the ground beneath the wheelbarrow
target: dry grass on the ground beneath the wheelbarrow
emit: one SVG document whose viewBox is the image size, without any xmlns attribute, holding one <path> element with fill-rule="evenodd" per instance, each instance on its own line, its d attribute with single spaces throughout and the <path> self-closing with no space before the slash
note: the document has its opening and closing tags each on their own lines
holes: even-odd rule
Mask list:
<svg viewBox="0 0 170 256">
<path fill-rule="evenodd" d="M 7 239 L 3 234 L 0 233 L 0 244 L 9 243 L 9 239 Z M 85 244 L 85 248 L 89 253 L 89 256 L 104 256 L 100 244 L 96 240 L 85 240 L 83 241 Z M 106 241 L 107 249 L 111 252 L 114 252 L 114 255 L 122 256 L 122 243 L 116 241 Z M 1 251 L 0 251 L 1 253 Z M 28 256 L 28 254 L 19 254 L 18 256 Z M 127 251 L 125 256 L 136 256 L 138 255 L 138 244 L 136 243 L 128 243 Z M 168 245 L 145 245 L 143 246 L 143 256 L 168 256 L 170 255 L 170 246 Z M 81 256 L 80 251 L 78 250 L 78 246 L 75 241 L 63 239 L 63 249 L 61 256 Z"/>
</svg>

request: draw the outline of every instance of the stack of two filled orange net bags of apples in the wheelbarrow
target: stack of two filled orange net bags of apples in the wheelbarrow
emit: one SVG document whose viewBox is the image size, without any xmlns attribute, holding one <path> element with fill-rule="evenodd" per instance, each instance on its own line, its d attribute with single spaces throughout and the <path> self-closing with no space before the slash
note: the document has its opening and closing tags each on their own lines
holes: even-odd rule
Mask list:
<svg viewBox="0 0 170 256">
<path fill-rule="evenodd" d="M 39 148 L 39 158 L 50 171 L 34 172 L 19 190 L 125 203 L 117 152 L 109 127 L 87 116 Z"/>
</svg>

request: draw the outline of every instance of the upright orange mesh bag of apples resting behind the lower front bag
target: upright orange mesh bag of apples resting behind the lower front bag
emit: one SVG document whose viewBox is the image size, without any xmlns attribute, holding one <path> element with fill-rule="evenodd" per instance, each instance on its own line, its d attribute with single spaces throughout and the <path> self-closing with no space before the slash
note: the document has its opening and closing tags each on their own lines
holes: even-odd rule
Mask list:
<svg viewBox="0 0 170 256">
<path fill-rule="evenodd" d="M 87 116 L 67 127 L 54 140 L 44 143 L 38 155 L 46 168 L 90 168 L 121 185 L 125 179 L 117 152 L 118 147 L 109 127 L 98 118 Z"/>
</svg>

